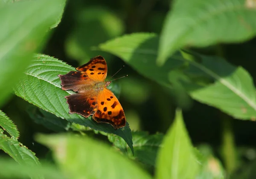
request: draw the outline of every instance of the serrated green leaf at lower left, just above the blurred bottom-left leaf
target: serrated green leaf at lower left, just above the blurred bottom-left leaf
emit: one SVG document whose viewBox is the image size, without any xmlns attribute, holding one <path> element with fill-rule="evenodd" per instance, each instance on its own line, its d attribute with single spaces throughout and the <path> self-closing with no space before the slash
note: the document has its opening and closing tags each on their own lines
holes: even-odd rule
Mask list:
<svg viewBox="0 0 256 179">
<path fill-rule="evenodd" d="M 35 153 L 30 151 L 15 139 L 9 138 L 3 134 L 0 128 L 0 149 L 9 154 L 19 164 L 40 165 Z"/>
</svg>

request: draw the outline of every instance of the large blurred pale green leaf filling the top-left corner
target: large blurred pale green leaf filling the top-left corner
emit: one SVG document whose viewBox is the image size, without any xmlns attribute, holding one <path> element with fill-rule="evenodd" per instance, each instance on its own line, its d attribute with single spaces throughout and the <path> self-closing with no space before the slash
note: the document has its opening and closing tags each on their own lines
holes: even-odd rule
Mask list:
<svg viewBox="0 0 256 179">
<path fill-rule="evenodd" d="M 0 105 L 31 62 L 33 53 L 47 40 L 47 30 L 56 23 L 64 2 L 34 0 L 0 6 Z"/>
</svg>

